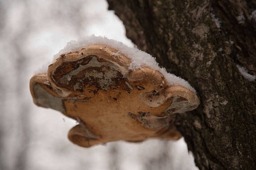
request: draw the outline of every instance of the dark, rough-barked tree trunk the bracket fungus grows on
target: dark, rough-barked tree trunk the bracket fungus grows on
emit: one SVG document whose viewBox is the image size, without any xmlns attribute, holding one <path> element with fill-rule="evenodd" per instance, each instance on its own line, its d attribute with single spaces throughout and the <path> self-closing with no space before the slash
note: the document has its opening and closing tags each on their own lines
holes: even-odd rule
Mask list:
<svg viewBox="0 0 256 170">
<path fill-rule="evenodd" d="M 108 0 L 126 35 L 197 90 L 176 126 L 201 170 L 255 168 L 256 21 L 252 0 Z M 221 27 L 216 25 L 216 19 Z"/>
</svg>

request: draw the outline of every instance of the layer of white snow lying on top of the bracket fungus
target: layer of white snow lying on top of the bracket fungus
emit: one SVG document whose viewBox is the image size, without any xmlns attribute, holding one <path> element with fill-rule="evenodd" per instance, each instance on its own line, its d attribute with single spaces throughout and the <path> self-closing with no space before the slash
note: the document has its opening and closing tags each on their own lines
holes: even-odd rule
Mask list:
<svg viewBox="0 0 256 170">
<path fill-rule="evenodd" d="M 155 58 L 150 54 L 138 50 L 137 48 L 128 47 L 124 43 L 116 40 L 108 39 L 102 36 L 95 36 L 94 34 L 85 38 L 80 38 L 77 41 L 72 40 L 68 42 L 62 50 L 53 56 L 53 59 L 56 59 L 59 55 L 64 53 L 79 51 L 82 48 L 92 44 L 104 44 L 123 53 L 125 56 L 131 59 L 131 64 L 129 66 L 130 70 L 135 70 L 142 67 L 149 67 L 154 70 L 158 70 L 163 74 L 163 76 L 166 77 L 168 85 L 181 85 L 196 93 L 196 90 L 187 81 L 181 77 L 175 76 L 174 74 L 168 73 L 165 68 L 160 68 Z"/>
</svg>

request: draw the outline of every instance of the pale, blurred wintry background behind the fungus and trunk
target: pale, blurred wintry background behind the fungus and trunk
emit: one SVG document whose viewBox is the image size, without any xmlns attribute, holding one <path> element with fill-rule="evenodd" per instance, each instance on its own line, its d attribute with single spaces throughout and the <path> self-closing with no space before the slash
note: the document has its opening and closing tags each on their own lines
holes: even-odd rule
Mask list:
<svg viewBox="0 0 256 170">
<path fill-rule="evenodd" d="M 134 46 L 107 8 L 105 0 L 0 0 L 0 170 L 197 170 L 183 139 L 81 148 L 67 139 L 74 120 L 33 104 L 31 76 L 68 41 L 95 34 Z"/>
</svg>

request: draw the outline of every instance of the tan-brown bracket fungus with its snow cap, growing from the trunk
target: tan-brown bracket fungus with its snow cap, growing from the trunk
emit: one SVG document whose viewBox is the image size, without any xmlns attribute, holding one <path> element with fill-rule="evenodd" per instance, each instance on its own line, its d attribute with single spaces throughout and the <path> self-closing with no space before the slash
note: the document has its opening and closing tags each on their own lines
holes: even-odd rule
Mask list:
<svg viewBox="0 0 256 170">
<path fill-rule="evenodd" d="M 47 73 L 30 81 L 37 106 L 77 120 L 68 132 L 71 142 L 90 147 L 117 140 L 181 138 L 175 114 L 199 105 L 185 80 L 123 43 L 96 36 L 84 42 L 69 43 Z"/>
</svg>

